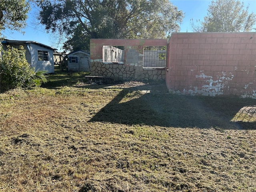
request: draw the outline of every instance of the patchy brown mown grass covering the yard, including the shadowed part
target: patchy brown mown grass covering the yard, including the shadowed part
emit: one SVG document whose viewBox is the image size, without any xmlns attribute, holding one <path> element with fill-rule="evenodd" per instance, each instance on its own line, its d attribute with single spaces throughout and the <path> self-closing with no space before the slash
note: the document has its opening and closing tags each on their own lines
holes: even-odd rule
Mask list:
<svg viewBox="0 0 256 192">
<path fill-rule="evenodd" d="M 0 94 L 0 191 L 256 191 L 255 100 L 138 85 Z"/>
</svg>

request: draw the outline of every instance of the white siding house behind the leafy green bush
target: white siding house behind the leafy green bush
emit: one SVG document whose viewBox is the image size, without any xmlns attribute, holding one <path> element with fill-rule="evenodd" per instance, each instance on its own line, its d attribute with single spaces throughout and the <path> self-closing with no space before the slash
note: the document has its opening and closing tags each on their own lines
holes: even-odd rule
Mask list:
<svg viewBox="0 0 256 192">
<path fill-rule="evenodd" d="M 38 43 L 36 41 L 18 41 L 18 40 L 4 40 L 2 41 L 3 48 L 10 45 L 19 48 L 20 45 L 26 50 L 26 60 L 35 70 L 46 70 L 48 73 L 54 73 L 54 59 L 53 52 L 57 50 L 50 46 Z"/>
</svg>

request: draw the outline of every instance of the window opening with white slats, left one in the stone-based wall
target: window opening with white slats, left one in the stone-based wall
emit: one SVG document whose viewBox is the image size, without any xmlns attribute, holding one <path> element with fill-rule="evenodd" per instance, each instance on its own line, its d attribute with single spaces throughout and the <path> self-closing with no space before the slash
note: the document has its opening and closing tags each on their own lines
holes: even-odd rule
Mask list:
<svg viewBox="0 0 256 192">
<path fill-rule="evenodd" d="M 124 64 L 124 46 L 103 46 L 102 61 L 104 64 Z"/>
</svg>

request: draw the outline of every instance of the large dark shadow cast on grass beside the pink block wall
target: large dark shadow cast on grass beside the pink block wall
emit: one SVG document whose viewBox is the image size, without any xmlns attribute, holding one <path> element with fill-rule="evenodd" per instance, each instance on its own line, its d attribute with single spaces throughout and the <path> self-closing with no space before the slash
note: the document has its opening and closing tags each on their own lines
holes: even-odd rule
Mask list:
<svg viewBox="0 0 256 192">
<path fill-rule="evenodd" d="M 231 122 L 236 113 L 252 99 L 159 94 L 157 90 L 120 102 L 133 90 L 124 89 L 90 119 L 90 122 L 145 124 L 149 126 L 256 129 L 256 122 Z"/>
</svg>

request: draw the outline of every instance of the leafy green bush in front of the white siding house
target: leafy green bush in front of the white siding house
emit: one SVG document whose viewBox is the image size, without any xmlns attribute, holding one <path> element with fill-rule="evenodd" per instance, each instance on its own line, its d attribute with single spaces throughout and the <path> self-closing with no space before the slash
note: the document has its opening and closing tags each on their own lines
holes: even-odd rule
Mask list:
<svg viewBox="0 0 256 192">
<path fill-rule="evenodd" d="M 34 68 L 30 67 L 23 46 L 17 49 L 8 45 L 7 50 L 3 51 L 0 67 L 0 86 L 4 91 L 18 87 L 40 86 L 41 82 L 47 82 L 44 76 L 46 71 L 34 72 Z"/>
</svg>

